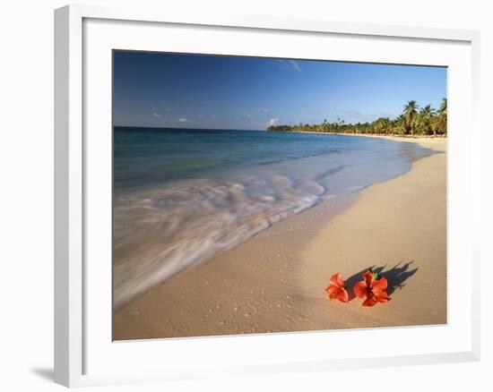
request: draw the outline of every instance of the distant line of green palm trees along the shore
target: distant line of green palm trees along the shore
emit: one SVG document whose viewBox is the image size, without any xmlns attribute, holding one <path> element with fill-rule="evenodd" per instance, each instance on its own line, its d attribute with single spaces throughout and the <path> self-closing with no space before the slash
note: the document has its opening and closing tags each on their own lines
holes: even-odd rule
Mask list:
<svg viewBox="0 0 493 392">
<path fill-rule="evenodd" d="M 442 99 L 437 110 L 431 105 L 419 107 L 416 101 L 411 100 L 404 105 L 401 115 L 395 118 L 380 117 L 372 123 L 345 124 L 341 119 L 334 123 L 324 120 L 322 124 L 271 125 L 267 131 L 444 136 L 446 106 L 446 98 Z"/>
</svg>

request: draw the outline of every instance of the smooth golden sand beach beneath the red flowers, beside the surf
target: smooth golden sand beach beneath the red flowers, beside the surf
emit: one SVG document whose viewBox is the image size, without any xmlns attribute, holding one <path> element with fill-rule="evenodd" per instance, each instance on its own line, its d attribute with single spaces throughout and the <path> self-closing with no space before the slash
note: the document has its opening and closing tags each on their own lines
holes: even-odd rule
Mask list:
<svg viewBox="0 0 493 392">
<path fill-rule="evenodd" d="M 402 141 L 436 153 L 154 286 L 115 313 L 114 339 L 446 323 L 446 140 Z M 352 287 L 368 267 L 389 280 L 389 303 L 327 298 L 333 273 Z"/>
</svg>

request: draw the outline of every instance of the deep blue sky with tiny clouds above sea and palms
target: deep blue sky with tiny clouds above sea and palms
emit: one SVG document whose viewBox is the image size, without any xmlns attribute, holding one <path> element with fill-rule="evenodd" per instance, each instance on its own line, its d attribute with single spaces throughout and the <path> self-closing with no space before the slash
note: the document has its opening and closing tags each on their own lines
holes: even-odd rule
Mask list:
<svg viewBox="0 0 493 392">
<path fill-rule="evenodd" d="M 114 53 L 114 124 L 264 130 L 439 107 L 446 69 L 219 55 Z"/>
</svg>

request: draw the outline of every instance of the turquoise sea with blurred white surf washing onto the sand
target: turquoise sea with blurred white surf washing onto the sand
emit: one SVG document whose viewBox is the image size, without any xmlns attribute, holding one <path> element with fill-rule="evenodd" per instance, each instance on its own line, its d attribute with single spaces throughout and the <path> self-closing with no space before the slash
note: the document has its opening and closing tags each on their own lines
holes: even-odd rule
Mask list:
<svg viewBox="0 0 493 392">
<path fill-rule="evenodd" d="M 416 143 L 295 132 L 114 130 L 114 301 L 320 201 L 402 175 Z"/>
</svg>

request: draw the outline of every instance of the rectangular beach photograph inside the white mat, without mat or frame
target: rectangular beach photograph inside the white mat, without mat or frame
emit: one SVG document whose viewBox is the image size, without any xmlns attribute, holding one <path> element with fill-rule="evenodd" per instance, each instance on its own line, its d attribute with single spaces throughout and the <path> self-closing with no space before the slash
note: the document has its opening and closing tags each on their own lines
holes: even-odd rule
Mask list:
<svg viewBox="0 0 493 392">
<path fill-rule="evenodd" d="M 447 322 L 447 69 L 113 51 L 113 340 Z"/>
</svg>

